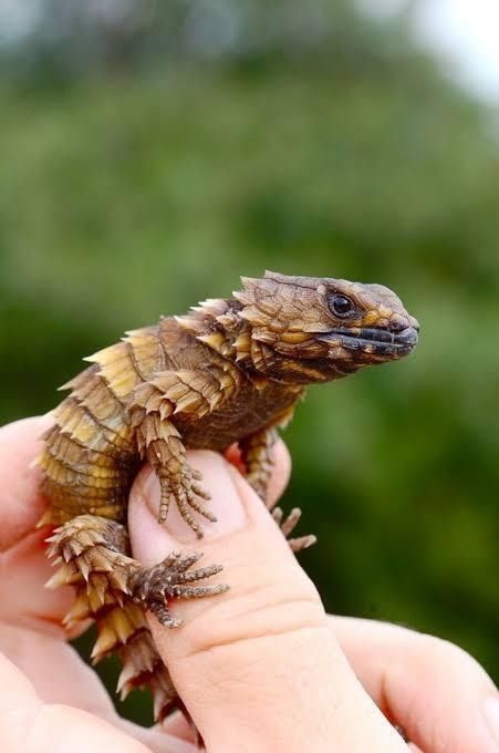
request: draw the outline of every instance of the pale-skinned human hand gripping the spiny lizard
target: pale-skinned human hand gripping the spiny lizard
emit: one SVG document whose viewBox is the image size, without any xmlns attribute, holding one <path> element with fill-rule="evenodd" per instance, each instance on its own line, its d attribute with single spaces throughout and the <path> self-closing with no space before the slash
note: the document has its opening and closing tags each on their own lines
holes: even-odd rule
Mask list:
<svg viewBox="0 0 499 753">
<path fill-rule="evenodd" d="M 3 753 L 194 753 L 179 715 L 149 730 L 121 719 L 95 673 L 67 646 L 60 622 L 71 588 L 43 588 L 52 574 L 44 502 L 30 467 L 50 419 L 0 430 L 0 740 Z M 235 460 L 233 457 L 231 460 Z M 150 618 L 162 657 L 209 753 L 396 753 L 499 751 L 497 690 L 450 643 L 395 626 L 328 617 L 282 534 L 238 471 L 193 452 L 219 523 L 196 543 L 171 510 L 157 523 L 158 485 L 145 467 L 132 491 L 134 555 L 155 564 L 171 549 L 201 548 L 231 590 L 174 606 L 168 630 Z M 282 443 L 269 495 L 288 482 Z M 193 538 L 194 537 L 194 538 Z M 493 718 L 497 715 L 496 732 Z M 497 734 L 497 737 L 495 737 Z M 416 747 L 416 744 L 418 747 Z"/>
</svg>

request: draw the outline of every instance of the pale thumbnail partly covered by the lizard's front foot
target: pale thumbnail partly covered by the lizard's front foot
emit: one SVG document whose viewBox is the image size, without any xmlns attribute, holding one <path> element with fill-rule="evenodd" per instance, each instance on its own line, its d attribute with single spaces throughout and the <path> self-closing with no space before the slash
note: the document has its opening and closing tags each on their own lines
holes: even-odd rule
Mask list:
<svg viewBox="0 0 499 753">
<path fill-rule="evenodd" d="M 189 512 L 202 528 L 204 538 L 208 540 L 216 539 L 241 528 L 247 516 L 242 501 L 232 482 L 231 468 L 228 462 L 217 453 L 202 450 L 189 452 L 188 455 L 190 465 L 202 474 L 200 484 L 211 495 L 211 499 L 205 501 L 199 498 L 199 502 L 217 518 L 216 523 L 211 523 L 189 507 Z M 159 481 L 153 471 L 144 478 L 142 493 L 147 507 L 157 518 L 160 488 Z M 174 497 L 170 501 L 168 516 L 162 525 L 180 544 L 193 543 L 199 538 L 196 532 L 181 517 Z"/>
</svg>

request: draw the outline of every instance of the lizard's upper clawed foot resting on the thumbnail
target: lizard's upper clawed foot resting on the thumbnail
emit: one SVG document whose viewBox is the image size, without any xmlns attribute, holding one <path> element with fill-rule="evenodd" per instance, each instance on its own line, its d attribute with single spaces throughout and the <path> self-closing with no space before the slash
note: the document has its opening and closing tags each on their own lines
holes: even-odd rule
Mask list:
<svg viewBox="0 0 499 753">
<path fill-rule="evenodd" d="M 202 537 L 202 528 L 194 517 L 189 508 L 202 515 L 207 520 L 216 523 L 217 518 L 200 499 L 211 499 L 211 495 L 200 484 L 202 474 L 189 465 L 184 465 L 181 472 L 171 477 L 160 477 L 162 499 L 159 503 L 158 522 L 164 523 L 168 515 L 168 508 L 171 497 L 174 497 L 178 510 L 187 523 L 193 528 L 198 538 Z"/>
</svg>

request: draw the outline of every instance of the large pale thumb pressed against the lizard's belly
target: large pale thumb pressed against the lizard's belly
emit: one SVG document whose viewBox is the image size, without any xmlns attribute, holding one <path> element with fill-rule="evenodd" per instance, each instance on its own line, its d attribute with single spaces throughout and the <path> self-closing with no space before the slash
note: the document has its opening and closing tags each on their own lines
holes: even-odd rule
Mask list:
<svg viewBox="0 0 499 753">
<path fill-rule="evenodd" d="M 220 455 L 198 451 L 189 461 L 218 518 L 205 525 L 200 565 L 221 563 L 210 585 L 230 590 L 175 604 L 185 621 L 178 630 L 153 617 L 149 625 L 207 749 L 407 750 L 357 683 L 313 584 L 254 492 Z M 132 491 L 129 530 L 134 555 L 148 565 L 199 547 L 176 509 L 158 525 L 158 483 L 145 468 Z"/>
</svg>

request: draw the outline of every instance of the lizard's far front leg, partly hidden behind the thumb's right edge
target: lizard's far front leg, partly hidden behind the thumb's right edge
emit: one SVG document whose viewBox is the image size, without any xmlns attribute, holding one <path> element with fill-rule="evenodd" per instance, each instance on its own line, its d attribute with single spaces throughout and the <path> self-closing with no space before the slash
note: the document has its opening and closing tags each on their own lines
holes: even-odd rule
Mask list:
<svg viewBox="0 0 499 753">
<path fill-rule="evenodd" d="M 276 429 L 262 429 L 245 437 L 239 443 L 239 448 L 246 467 L 247 481 L 257 492 L 258 496 L 261 497 L 268 509 L 272 512 L 272 517 L 288 539 L 291 549 L 298 553 L 315 544 L 316 538 L 312 534 L 290 538 L 291 533 L 300 520 L 301 509 L 294 507 L 288 517 L 284 518 L 282 509 L 276 507 L 276 503 L 271 503 L 268 499 L 267 491 L 273 467 L 272 448 L 277 437 Z"/>
</svg>

